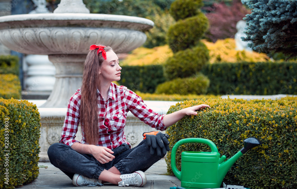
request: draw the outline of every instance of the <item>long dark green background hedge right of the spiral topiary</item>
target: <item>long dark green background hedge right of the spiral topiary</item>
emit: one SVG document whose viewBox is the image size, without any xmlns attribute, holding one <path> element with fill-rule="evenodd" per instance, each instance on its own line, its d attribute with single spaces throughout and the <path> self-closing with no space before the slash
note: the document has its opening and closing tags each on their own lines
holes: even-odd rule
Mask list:
<svg viewBox="0 0 297 189">
<path fill-rule="evenodd" d="M 295 62 L 216 63 L 204 66 L 201 73 L 210 80 L 208 94 L 297 94 Z"/>
</svg>

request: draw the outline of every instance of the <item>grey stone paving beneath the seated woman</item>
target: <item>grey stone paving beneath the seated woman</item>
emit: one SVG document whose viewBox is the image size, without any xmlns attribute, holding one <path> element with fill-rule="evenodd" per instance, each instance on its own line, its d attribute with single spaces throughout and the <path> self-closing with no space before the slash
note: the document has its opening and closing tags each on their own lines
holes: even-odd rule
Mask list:
<svg viewBox="0 0 297 189">
<path fill-rule="evenodd" d="M 80 186 L 76 187 L 72 185 L 72 180 L 69 179 L 62 171 L 54 167 L 52 164 L 47 162 L 39 162 L 39 176 L 38 178 L 28 185 L 20 187 L 21 189 L 52 189 L 52 188 L 102 188 L 102 189 L 123 189 L 117 185 L 110 183 L 104 184 L 104 186 Z M 43 166 L 47 166 L 44 168 Z M 147 183 L 142 189 L 169 189 L 170 187 L 180 186 L 181 182 L 174 176 L 164 175 L 167 172 L 165 159 L 159 160 L 151 168 L 149 168 L 145 174 Z M 125 187 L 138 188 L 138 187 Z"/>
</svg>

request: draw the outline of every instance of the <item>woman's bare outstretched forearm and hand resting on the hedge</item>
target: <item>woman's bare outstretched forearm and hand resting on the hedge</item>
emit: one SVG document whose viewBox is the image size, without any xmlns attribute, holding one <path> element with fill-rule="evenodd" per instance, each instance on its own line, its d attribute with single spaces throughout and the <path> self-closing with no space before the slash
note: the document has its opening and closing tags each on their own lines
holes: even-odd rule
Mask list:
<svg viewBox="0 0 297 189">
<path fill-rule="evenodd" d="M 163 118 L 163 123 L 164 123 L 165 127 L 169 127 L 169 126 L 175 124 L 176 122 L 178 122 L 181 118 L 183 118 L 186 115 L 188 115 L 188 116 L 197 115 L 197 112 L 196 112 L 197 110 L 200 110 L 200 109 L 203 109 L 206 107 L 210 108 L 209 105 L 200 104 L 200 105 L 192 106 L 189 108 L 184 108 L 182 110 L 178 110 L 171 114 L 167 114 Z"/>
</svg>

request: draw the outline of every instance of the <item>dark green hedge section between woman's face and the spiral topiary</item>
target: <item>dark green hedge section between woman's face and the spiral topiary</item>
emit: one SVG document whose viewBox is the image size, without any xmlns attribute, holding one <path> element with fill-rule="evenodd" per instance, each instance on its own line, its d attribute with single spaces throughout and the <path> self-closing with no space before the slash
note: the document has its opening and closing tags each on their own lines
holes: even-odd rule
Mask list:
<svg viewBox="0 0 297 189">
<path fill-rule="evenodd" d="M 156 86 L 164 81 L 162 65 L 122 66 L 118 83 L 134 91 L 153 93 Z"/>
</svg>

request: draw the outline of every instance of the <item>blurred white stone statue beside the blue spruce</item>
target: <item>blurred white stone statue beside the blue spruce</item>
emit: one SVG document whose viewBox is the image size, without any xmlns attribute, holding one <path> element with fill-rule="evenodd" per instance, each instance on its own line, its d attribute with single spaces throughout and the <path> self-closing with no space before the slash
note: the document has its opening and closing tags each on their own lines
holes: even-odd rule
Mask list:
<svg viewBox="0 0 297 189">
<path fill-rule="evenodd" d="M 235 34 L 235 44 L 236 44 L 236 50 L 238 51 L 252 51 L 252 48 L 248 47 L 247 44 L 249 42 L 242 41 L 241 37 L 246 37 L 246 34 L 244 33 L 245 28 L 247 27 L 247 24 L 244 20 L 240 20 L 236 23 L 236 29 L 237 33 Z"/>
</svg>

